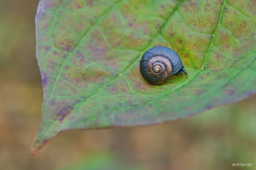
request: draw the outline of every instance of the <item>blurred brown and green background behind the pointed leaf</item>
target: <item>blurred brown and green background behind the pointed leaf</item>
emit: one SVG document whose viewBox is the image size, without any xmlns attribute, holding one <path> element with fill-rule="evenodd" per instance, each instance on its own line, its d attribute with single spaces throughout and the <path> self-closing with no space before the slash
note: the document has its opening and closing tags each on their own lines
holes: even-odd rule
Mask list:
<svg viewBox="0 0 256 170">
<path fill-rule="evenodd" d="M 0 0 L 0 169 L 256 169 L 256 95 L 181 120 L 70 130 L 30 156 L 42 105 L 38 0 Z"/>
</svg>

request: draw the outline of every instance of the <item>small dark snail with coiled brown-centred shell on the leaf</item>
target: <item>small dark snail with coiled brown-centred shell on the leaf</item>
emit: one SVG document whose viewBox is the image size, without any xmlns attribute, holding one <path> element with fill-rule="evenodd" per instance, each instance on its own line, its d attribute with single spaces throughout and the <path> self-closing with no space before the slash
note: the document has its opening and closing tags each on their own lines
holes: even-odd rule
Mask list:
<svg viewBox="0 0 256 170">
<path fill-rule="evenodd" d="M 163 84 L 171 75 L 187 72 L 180 57 L 167 47 L 153 47 L 147 50 L 140 61 L 140 73 L 151 84 Z"/>
</svg>

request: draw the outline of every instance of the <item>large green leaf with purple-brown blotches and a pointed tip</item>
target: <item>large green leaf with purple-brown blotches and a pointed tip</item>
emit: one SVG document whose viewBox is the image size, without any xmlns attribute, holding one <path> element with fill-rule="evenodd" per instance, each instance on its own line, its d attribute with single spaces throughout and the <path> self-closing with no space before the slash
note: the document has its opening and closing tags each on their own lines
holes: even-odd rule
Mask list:
<svg viewBox="0 0 256 170">
<path fill-rule="evenodd" d="M 233 103 L 256 91 L 256 1 L 40 0 L 39 150 L 67 129 L 146 125 Z M 147 83 L 143 53 L 167 46 L 188 75 Z"/>
</svg>

